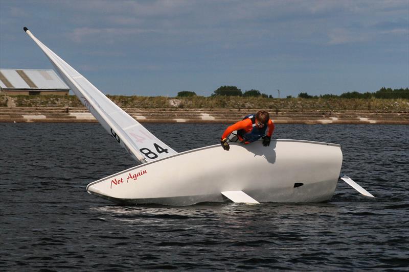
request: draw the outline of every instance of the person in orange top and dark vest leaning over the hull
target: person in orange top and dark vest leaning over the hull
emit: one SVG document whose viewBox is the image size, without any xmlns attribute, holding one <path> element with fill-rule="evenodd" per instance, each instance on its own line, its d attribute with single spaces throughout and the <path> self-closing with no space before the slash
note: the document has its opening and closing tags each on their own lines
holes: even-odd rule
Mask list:
<svg viewBox="0 0 409 272">
<path fill-rule="evenodd" d="M 224 131 L 223 135 L 221 135 L 220 143 L 225 151 L 229 151 L 230 146 L 228 137 L 232 133 L 234 135 L 234 131 L 237 131 L 237 140 L 244 144 L 248 144 L 262 138 L 263 145 L 269 146 L 274 128 L 274 122 L 270 119 L 268 112 L 259 111 L 256 114 L 244 116 L 241 121 L 238 121 L 232 126 L 228 127 Z M 234 141 L 232 139 L 229 140 Z"/>
</svg>

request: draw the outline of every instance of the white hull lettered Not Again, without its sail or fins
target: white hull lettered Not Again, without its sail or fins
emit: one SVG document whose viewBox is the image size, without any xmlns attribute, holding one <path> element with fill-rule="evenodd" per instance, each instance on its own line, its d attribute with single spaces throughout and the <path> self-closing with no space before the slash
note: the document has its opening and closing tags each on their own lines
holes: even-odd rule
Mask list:
<svg viewBox="0 0 409 272">
<path fill-rule="evenodd" d="M 232 143 L 179 153 L 88 184 L 87 191 L 119 204 L 185 206 L 225 202 L 243 191 L 258 202 L 322 202 L 336 188 L 342 165 L 337 144 L 272 140 Z"/>
</svg>

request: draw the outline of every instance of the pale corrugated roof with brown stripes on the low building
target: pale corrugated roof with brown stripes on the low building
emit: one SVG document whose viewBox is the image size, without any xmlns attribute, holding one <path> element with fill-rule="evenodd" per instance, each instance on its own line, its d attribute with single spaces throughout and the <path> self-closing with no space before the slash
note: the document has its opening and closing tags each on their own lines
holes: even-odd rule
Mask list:
<svg viewBox="0 0 409 272">
<path fill-rule="evenodd" d="M 0 69 L 3 89 L 69 90 L 54 70 Z"/>
</svg>

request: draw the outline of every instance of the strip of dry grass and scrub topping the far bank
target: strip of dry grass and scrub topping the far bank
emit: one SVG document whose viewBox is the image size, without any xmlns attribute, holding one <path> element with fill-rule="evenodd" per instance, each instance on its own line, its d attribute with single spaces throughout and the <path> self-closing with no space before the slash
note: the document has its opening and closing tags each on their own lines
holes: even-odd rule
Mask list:
<svg viewBox="0 0 409 272">
<path fill-rule="evenodd" d="M 409 111 L 407 99 L 381 98 L 265 98 L 240 96 L 123 96 L 107 95 L 121 108 L 157 109 L 266 109 L 270 112 L 281 110 L 366 110 L 366 111 Z M 75 95 L 17 95 L 12 96 L 17 107 L 81 107 Z M 7 103 L 0 101 L 0 106 Z"/>
</svg>

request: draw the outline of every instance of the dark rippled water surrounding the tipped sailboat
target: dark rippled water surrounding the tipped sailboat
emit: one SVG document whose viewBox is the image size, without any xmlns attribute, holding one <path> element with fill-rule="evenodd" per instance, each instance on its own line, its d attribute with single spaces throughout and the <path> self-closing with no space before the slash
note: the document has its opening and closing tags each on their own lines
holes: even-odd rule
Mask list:
<svg viewBox="0 0 409 272">
<path fill-rule="evenodd" d="M 223 124 L 147 124 L 176 151 Z M 408 270 L 409 126 L 278 125 L 342 145 L 327 203 L 116 206 L 85 186 L 134 165 L 98 124 L 0 123 L 0 270 Z"/>
</svg>

